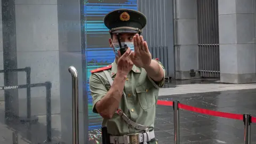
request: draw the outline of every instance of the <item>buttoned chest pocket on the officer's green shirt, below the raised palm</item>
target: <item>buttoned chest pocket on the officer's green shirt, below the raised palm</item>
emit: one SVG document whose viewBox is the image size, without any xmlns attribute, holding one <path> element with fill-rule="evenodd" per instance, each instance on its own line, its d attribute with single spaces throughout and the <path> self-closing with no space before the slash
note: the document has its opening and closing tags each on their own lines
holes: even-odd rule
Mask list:
<svg viewBox="0 0 256 144">
<path fill-rule="evenodd" d="M 154 86 L 147 83 L 137 85 L 135 87 L 140 106 L 142 109 L 148 109 L 155 105 L 156 99 L 154 94 Z"/>
</svg>

